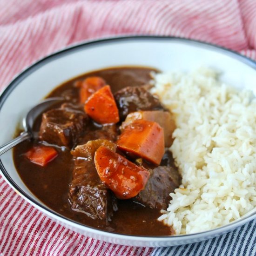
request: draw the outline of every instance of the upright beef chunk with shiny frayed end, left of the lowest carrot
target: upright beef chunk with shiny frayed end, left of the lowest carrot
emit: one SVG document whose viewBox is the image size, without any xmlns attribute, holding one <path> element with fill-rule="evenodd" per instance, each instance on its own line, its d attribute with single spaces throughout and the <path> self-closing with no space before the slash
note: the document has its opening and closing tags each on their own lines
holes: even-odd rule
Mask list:
<svg viewBox="0 0 256 256">
<path fill-rule="evenodd" d="M 74 159 L 73 179 L 69 183 L 71 208 L 92 219 L 111 220 L 117 208 L 112 192 L 101 182 L 92 161 Z"/>
</svg>

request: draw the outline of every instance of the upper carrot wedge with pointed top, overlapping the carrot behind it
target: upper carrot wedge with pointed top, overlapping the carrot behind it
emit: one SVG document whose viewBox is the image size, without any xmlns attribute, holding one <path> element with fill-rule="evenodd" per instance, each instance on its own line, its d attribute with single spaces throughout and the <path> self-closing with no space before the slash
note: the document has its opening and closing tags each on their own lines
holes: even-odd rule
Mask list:
<svg viewBox="0 0 256 256">
<path fill-rule="evenodd" d="M 94 121 L 101 124 L 119 121 L 118 108 L 109 85 L 92 94 L 85 102 L 84 110 Z"/>
</svg>

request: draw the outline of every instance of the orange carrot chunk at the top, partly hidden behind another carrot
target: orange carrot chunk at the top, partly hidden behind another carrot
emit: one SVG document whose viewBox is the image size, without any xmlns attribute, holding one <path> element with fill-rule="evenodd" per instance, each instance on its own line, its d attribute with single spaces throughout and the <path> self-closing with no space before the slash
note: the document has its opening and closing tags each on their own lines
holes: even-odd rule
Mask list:
<svg viewBox="0 0 256 256">
<path fill-rule="evenodd" d="M 80 102 L 84 104 L 92 94 L 105 85 L 106 82 L 99 76 L 90 76 L 82 81 L 80 85 L 77 83 L 77 86 L 81 87 L 79 92 Z"/>
</svg>

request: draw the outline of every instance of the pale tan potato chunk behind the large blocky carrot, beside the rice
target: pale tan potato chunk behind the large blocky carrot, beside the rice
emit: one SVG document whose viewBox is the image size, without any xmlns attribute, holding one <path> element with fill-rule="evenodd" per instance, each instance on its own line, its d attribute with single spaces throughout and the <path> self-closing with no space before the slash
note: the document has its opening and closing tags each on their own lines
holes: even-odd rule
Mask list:
<svg viewBox="0 0 256 256">
<path fill-rule="evenodd" d="M 136 111 L 128 114 L 125 121 L 122 122 L 120 127 L 121 132 L 135 120 L 147 120 L 157 122 L 162 128 L 164 133 L 165 147 L 170 147 L 173 138 L 172 133 L 175 130 L 175 121 L 173 115 L 169 111 L 154 110 L 154 111 Z"/>
</svg>

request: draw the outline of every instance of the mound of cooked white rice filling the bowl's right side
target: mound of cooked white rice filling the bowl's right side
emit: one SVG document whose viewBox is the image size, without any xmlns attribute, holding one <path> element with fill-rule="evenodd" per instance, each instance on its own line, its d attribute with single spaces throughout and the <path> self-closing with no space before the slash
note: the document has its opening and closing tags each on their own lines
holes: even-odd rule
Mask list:
<svg viewBox="0 0 256 256">
<path fill-rule="evenodd" d="M 159 218 L 176 234 L 214 229 L 256 209 L 256 100 L 207 68 L 155 75 L 152 93 L 175 114 L 170 150 L 182 175 Z"/>
</svg>

